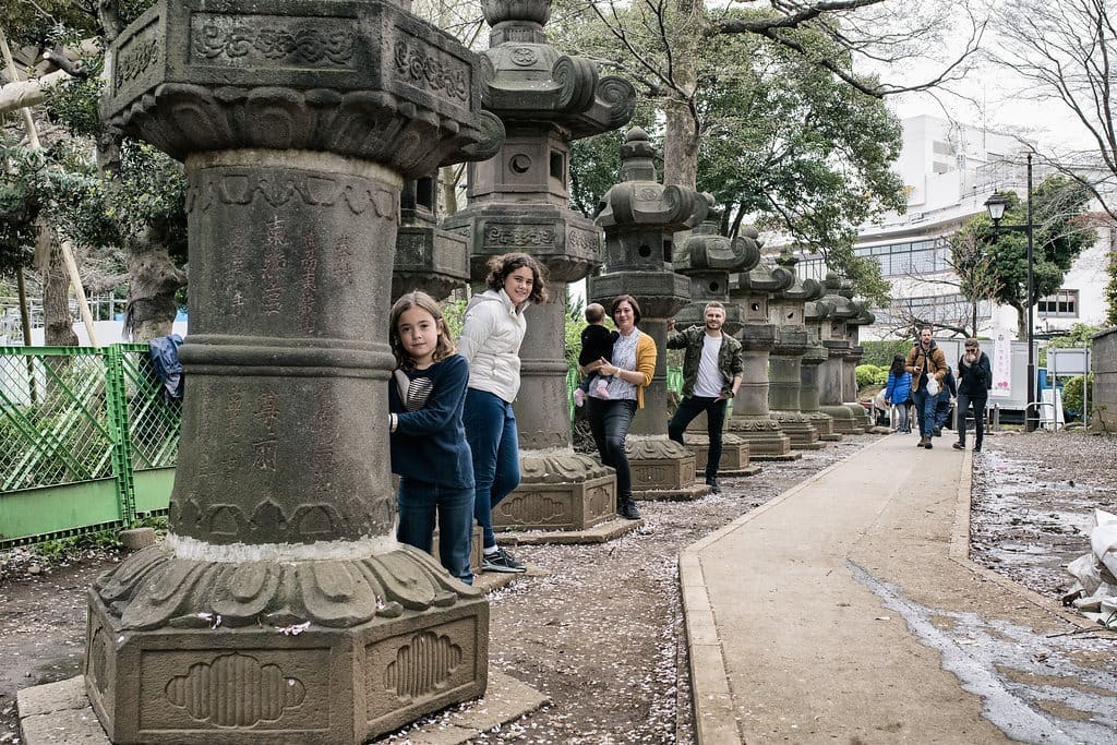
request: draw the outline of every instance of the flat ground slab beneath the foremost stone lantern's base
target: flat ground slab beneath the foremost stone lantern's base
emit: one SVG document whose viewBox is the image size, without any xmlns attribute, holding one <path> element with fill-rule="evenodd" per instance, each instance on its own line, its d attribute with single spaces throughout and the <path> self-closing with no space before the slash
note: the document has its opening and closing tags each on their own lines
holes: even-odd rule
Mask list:
<svg viewBox="0 0 1117 745">
<path fill-rule="evenodd" d="M 489 668 L 485 697 L 459 704 L 411 729 L 412 745 L 459 745 L 548 703 L 543 694 Z M 25 688 L 17 696 L 25 745 L 111 745 L 76 676 Z"/>
</svg>

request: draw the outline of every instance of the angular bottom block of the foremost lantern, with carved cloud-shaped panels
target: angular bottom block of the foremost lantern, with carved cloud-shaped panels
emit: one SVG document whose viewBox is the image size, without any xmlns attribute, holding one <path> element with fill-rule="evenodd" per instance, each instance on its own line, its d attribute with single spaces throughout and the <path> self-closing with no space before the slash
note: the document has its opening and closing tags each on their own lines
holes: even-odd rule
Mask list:
<svg viewBox="0 0 1117 745">
<path fill-rule="evenodd" d="M 86 691 L 116 745 L 360 745 L 486 688 L 483 599 L 299 633 L 125 630 L 97 601 Z"/>
</svg>

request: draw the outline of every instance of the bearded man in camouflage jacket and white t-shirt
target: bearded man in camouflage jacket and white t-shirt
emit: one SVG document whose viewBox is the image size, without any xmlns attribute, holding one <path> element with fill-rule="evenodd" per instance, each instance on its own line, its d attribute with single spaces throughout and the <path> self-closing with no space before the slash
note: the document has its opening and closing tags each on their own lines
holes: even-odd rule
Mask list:
<svg viewBox="0 0 1117 745">
<path fill-rule="evenodd" d="M 703 326 L 691 326 L 667 338 L 667 348 L 686 350 L 682 357 L 682 400 L 667 423 L 667 436 L 682 442 L 682 431 L 701 412 L 706 412 L 709 455 L 706 459 L 706 484 L 715 494 L 722 491 L 717 469 L 722 462 L 722 429 L 729 399 L 737 394 L 744 375 L 745 360 L 741 342 L 722 333 L 725 306 L 717 300 L 706 304 Z M 667 331 L 675 321 L 667 322 Z"/>
</svg>

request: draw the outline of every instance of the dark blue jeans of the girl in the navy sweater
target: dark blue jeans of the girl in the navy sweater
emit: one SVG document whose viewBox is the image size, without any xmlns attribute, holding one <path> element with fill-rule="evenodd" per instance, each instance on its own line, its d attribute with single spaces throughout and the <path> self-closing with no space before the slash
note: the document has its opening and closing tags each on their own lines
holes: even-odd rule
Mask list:
<svg viewBox="0 0 1117 745">
<path fill-rule="evenodd" d="M 429 554 L 437 513 L 439 561 L 452 576 L 472 584 L 474 573 L 469 570 L 469 544 L 474 532 L 472 488 L 452 488 L 401 478 L 398 500 L 400 526 L 395 531 L 397 541 Z"/>
</svg>

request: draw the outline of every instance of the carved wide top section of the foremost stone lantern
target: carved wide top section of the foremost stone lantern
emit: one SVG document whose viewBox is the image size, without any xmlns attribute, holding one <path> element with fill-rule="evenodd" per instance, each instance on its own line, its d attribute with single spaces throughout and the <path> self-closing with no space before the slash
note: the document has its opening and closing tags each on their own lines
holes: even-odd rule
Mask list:
<svg viewBox="0 0 1117 745">
<path fill-rule="evenodd" d="M 400 4 L 258 4 L 156 2 L 109 51 L 102 117 L 178 160 L 327 151 L 404 178 L 499 145 L 484 60 Z"/>
</svg>

